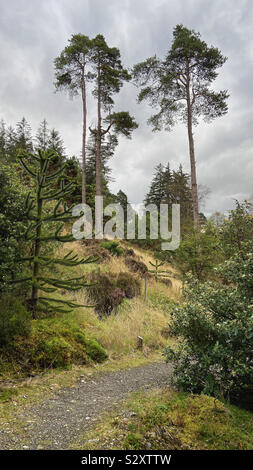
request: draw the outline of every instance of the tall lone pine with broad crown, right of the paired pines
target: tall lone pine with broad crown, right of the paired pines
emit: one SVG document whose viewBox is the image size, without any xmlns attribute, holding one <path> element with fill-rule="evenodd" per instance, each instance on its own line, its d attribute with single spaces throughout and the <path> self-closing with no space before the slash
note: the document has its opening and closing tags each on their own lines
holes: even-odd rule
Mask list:
<svg viewBox="0 0 253 470">
<path fill-rule="evenodd" d="M 183 25 L 173 31 L 173 43 L 164 60 L 156 56 L 136 64 L 133 76 L 141 87 L 139 102 L 147 100 L 158 112 L 148 120 L 153 130 L 171 130 L 178 120 L 187 124 L 191 164 L 194 225 L 199 221 L 193 125 L 227 113 L 226 90 L 210 89 L 217 69 L 226 61 L 221 52 Z"/>
</svg>

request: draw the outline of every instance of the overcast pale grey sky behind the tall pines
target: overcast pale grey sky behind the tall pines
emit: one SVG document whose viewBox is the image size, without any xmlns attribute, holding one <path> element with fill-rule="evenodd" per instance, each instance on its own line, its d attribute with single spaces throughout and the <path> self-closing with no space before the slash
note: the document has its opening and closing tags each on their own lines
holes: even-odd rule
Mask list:
<svg viewBox="0 0 253 470">
<path fill-rule="evenodd" d="M 194 129 L 199 183 L 210 188 L 205 212 L 226 211 L 233 199 L 253 194 L 253 3 L 249 0 L 0 0 L 0 119 L 23 116 L 33 131 L 43 118 L 61 133 L 68 155 L 80 155 L 81 101 L 54 93 L 53 60 L 72 34 L 103 34 L 118 47 L 126 67 L 169 49 L 176 24 L 195 29 L 228 57 L 215 82 L 228 89 L 229 112 Z M 116 110 L 139 123 L 132 140 L 120 139 L 111 160 L 114 183 L 132 203 L 143 200 L 158 163 L 182 163 L 189 171 L 187 131 L 152 133 L 152 110 L 137 104 L 137 90 L 124 86 Z M 94 102 L 88 114 L 94 122 Z"/>
</svg>

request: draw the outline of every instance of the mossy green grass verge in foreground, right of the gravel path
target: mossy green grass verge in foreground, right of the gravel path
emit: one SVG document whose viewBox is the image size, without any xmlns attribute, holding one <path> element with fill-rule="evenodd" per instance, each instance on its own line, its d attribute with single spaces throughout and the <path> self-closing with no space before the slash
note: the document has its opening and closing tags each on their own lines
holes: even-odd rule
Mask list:
<svg viewBox="0 0 253 470">
<path fill-rule="evenodd" d="M 117 412 L 118 411 L 118 412 Z M 82 449 L 246 450 L 253 447 L 253 414 L 206 395 L 172 389 L 136 392 L 103 416 Z"/>
</svg>

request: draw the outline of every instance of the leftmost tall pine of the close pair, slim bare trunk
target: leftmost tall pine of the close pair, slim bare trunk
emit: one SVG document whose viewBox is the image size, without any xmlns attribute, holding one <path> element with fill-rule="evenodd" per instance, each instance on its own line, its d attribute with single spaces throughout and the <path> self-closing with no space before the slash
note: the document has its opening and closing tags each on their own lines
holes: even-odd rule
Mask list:
<svg viewBox="0 0 253 470">
<path fill-rule="evenodd" d="M 81 92 L 83 103 L 82 131 L 82 202 L 86 202 L 86 128 L 87 101 L 86 82 L 92 75 L 87 66 L 90 60 L 91 40 L 83 34 L 74 34 L 69 40 L 69 46 L 61 52 L 54 61 L 56 90 L 67 90 L 70 96 Z"/>
</svg>

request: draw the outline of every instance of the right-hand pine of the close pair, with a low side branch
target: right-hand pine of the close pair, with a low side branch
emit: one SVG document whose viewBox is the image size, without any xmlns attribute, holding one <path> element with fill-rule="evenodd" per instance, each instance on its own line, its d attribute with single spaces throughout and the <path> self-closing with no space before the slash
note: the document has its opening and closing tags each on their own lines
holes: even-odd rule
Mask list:
<svg viewBox="0 0 253 470">
<path fill-rule="evenodd" d="M 114 104 L 112 96 L 118 93 L 124 81 L 131 79 L 130 74 L 123 68 L 120 59 L 120 51 L 116 47 L 109 47 L 104 37 L 99 34 L 92 41 L 91 63 L 94 70 L 95 88 L 93 95 L 97 99 L 97 128 L 96 133 L 96 195 L 102 195 L 101 180 L 101 145 L 102 139 L 111 127 L 116 134 L 124 134 L 130 137 L 131 131 L 137 127 L 134 119 L 128 112 L 110 113 Z M 102 109 L 107 113 L 102 128 Z"/>
</svg>

